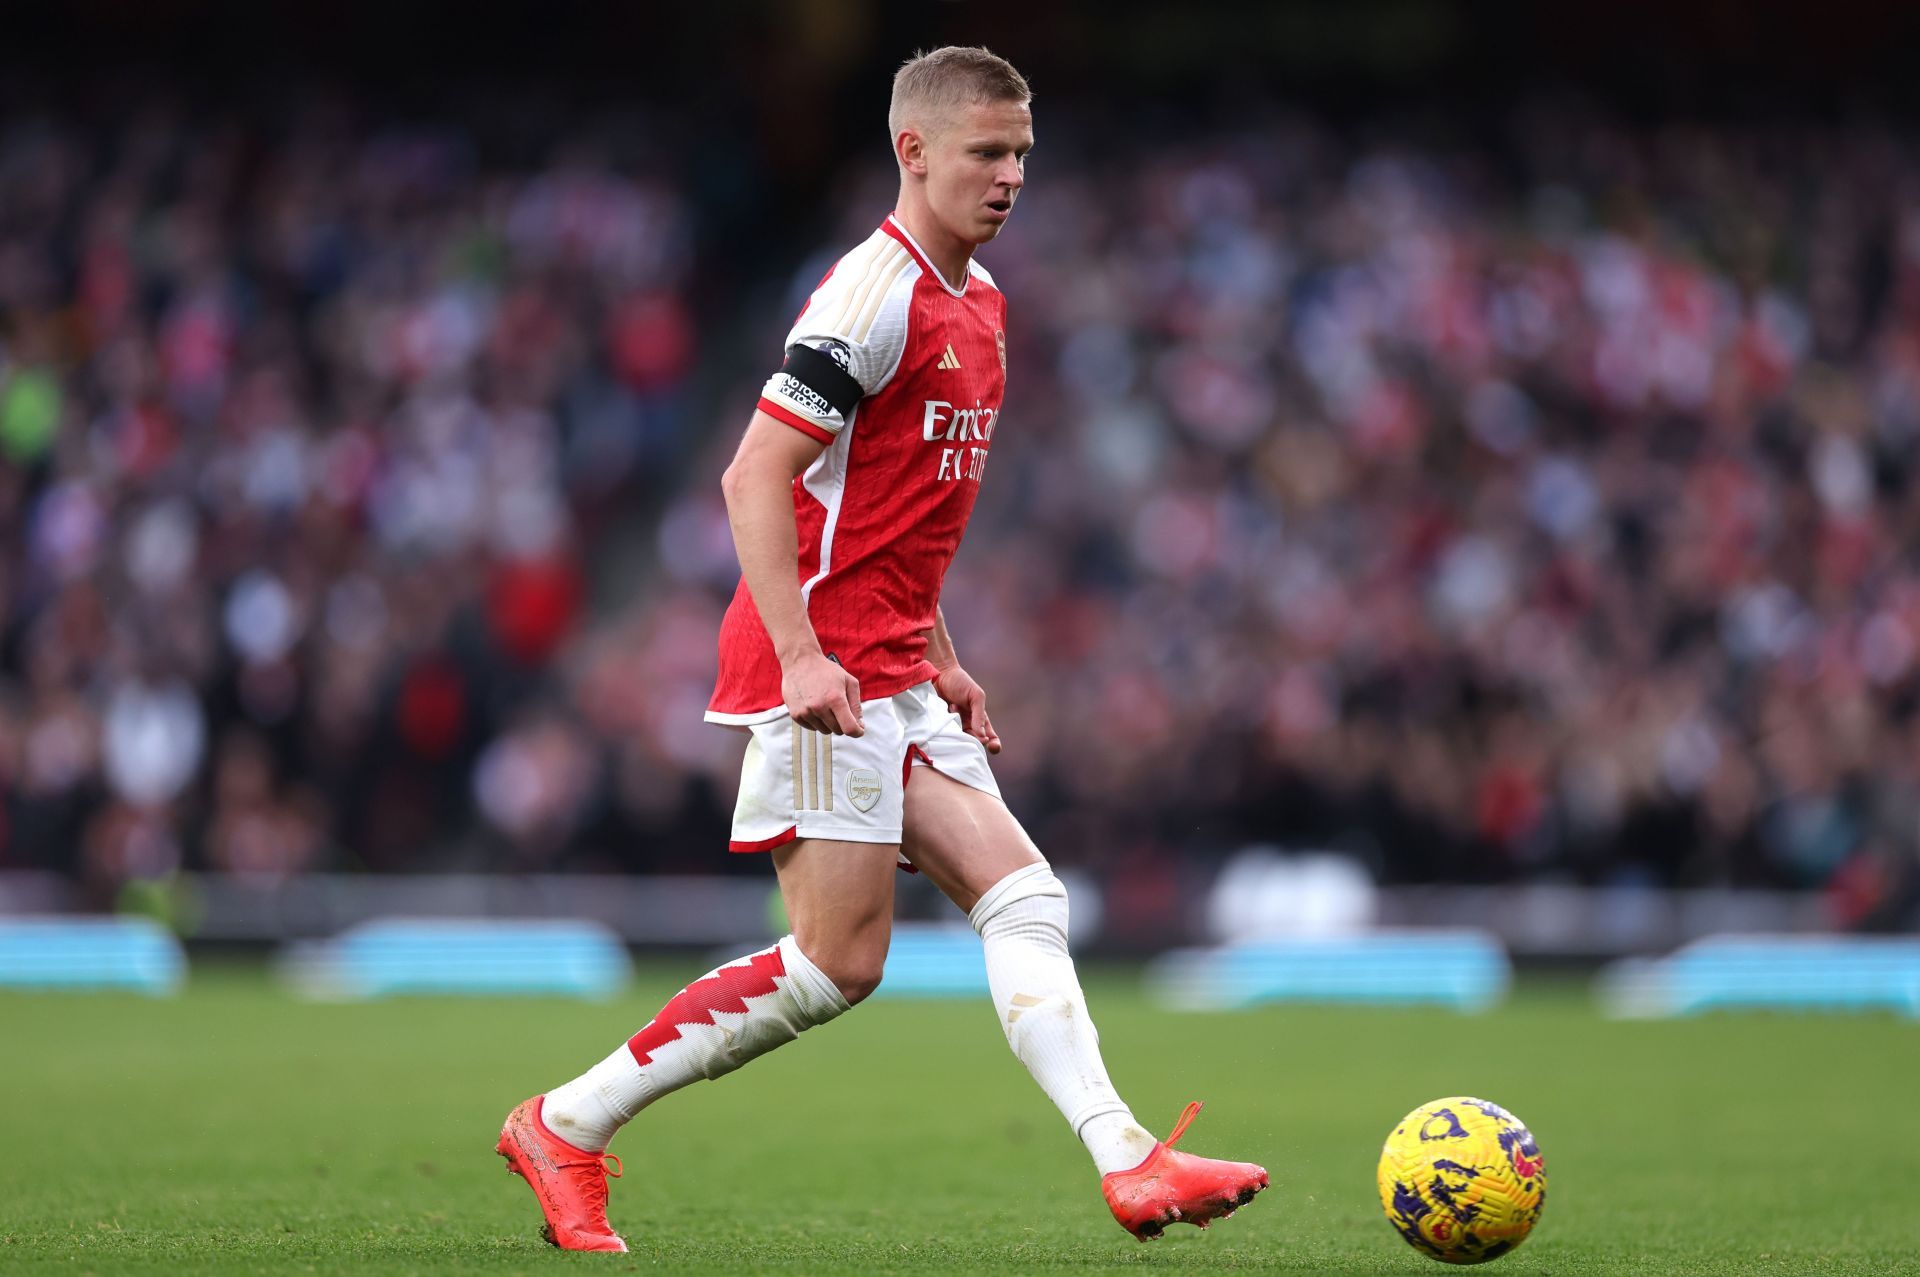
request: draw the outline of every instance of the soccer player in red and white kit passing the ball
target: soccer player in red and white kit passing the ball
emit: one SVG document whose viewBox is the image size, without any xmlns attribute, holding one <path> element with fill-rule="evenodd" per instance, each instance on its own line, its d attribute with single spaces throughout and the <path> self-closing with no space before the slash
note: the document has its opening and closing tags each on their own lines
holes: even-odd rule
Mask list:
<svg viewBox="0 0 1920 1277">
<path fill-rule="evenodd" d="M 1006 225 L 1033 146 L 1025 79 L 983 48 L 900 67 L 887 127 L 900 200 L 787 334 L 724 490 L 741 584 L 708 722 L 749 734 L 733 851 L 770 851 L 793 933 L 674 995 L 586 1073 L 507 1118 L 547 1241 L 626 1250 L 607 1143 L 670 1091 L 737 1070 L 879 983 L 893 870 L 925 874 L 979 931 L 1008 1045 L 1140 1241 L 1206 1227 L 1267 1185 L 1173 1150 L 1114 1091 L 1068 956 L 1068 897 L 1000 801 L 987 693 L 939 611 L 1006 386 L 1006 298 L 973 250 Z"/>
</svg>

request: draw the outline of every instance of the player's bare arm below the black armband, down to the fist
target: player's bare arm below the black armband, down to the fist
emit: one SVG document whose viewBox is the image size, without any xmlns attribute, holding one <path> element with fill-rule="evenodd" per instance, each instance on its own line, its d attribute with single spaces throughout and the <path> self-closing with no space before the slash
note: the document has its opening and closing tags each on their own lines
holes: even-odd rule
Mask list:
<svg viewBox="0 0 1920 1277">
<path fill-rule="evenodd" d="M 860 735 L 860 682 L 820 651 L 801 597 L 793 480 L 822 449 L 824 444 L 810 434 L 764 409 L 755 411 L 720 490 L 747 593 L 780 657 L 780 691 L 787 712 L 814 732 Z"/>
</svg>

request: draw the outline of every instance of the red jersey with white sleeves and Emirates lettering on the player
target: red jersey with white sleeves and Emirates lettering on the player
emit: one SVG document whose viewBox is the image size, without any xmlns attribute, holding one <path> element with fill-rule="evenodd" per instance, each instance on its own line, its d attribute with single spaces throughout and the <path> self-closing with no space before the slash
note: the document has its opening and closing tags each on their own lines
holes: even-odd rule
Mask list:
<svg viewBox="0 0 1920 1277">
<path fill-rule="evenodd" d="M 889 217 L 820 280 L 787 351 L 760 411 L 828 446 L 793 480 L 801 597 L 860 699 L 891 697 L 935 674 L 925 632 L 1000 422 L 1006 298 L 979 263 L 948 284 Z M 780 661 L 743 578 L 720 624 L 707 720 L 783 712 Z"/>
</svg>

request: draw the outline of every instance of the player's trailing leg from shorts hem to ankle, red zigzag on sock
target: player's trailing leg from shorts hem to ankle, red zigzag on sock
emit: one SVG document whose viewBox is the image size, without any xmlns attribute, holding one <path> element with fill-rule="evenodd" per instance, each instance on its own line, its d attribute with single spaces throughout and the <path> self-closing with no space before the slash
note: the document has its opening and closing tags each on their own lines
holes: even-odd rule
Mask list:
<svg viewBox="0 0 1920 1277">
<path fill-rule="evenodd" d="M 887 960 L 895 851 L 812 837 L 776 849 L 793 933 L 695 979 L 612 1054 L 549 1091 L 547 1127 L 601 1152 L 662 1095 L 732 1073 L 862 1000 Z"/>
</svg>

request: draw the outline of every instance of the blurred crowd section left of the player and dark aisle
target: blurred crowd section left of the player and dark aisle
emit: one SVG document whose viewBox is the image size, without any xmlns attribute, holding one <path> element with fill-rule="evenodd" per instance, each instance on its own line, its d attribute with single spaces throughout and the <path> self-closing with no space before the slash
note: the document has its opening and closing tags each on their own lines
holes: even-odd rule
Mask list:
<svg viewBox="0 0 1920 1277">
<path fill-rule="evenodd" d="M 559 659 L 676 465 L 689 248 L 586 146 L 8 121 L 0 864 L 555 855 L 601 762 Z"/>
</svg>

